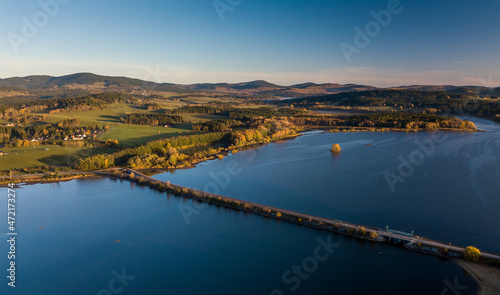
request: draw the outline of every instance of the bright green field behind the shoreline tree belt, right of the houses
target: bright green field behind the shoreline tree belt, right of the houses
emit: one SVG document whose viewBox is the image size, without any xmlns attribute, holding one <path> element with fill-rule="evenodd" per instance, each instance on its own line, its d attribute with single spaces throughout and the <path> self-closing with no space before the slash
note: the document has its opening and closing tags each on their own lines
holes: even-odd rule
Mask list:
<svg viewBox="0 0 500 295">
<path fill-rule="evenodd" d="M 177 124 L 177 128 L 153 127 L 145 125 L 116 124 L 101 135 L 101 140 L 118 140 L 122 146 L 135 146 L 148 141 L 177 136 L 190 132 L 190 124 Z"/>
</svg>

